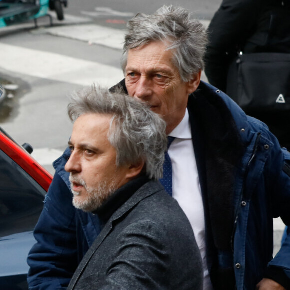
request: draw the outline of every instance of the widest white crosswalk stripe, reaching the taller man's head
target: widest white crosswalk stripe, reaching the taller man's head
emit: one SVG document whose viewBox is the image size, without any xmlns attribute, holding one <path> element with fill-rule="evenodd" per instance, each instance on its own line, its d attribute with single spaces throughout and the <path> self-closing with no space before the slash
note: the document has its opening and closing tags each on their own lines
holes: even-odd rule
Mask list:
<svg viewBox="0 0 290 290">
<path fill-rule="evenodd" d="M 123 78 L 121 69 L 51 52 L 0 43 L 0 66 L 8 71 L 56 81 L 112 86 Z"/>
</svg>

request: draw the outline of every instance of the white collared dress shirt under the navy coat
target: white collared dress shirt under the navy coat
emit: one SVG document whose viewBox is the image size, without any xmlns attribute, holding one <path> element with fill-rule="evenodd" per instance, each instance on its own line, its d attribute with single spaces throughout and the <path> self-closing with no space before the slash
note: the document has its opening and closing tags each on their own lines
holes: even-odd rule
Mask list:
<svg viewBox="0 0 290 290">
<path fill-rule="evenodd" d="M 211 290 L 206 263 L 203 201 L 187 109 L 183 120 L 169 136 L 175 137 L 168 150 L 172 163 L 172 196 L 178 201 L 193 228 L 203 262 L 203 289 Z"/>
</svg>

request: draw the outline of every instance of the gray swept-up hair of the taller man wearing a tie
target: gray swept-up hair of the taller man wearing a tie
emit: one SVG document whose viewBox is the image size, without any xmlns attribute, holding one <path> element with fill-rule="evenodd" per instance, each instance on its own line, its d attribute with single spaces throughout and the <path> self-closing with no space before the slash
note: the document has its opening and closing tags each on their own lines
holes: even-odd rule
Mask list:
<svg viewBox="0 0 290 290">
<path fill-rule="evenodd" d="M 159 8 L 152 15 L 137 14 L 128 24 L 123 47 L 122 68 L 125 70 L 129 49 L 153 41 L 167 41 L 173 50 L 173 61 L 183 81 L 189 81 L 203 69 L 207 44 L 205 27 L 198 20 L 190 19 L 182 7 L 172 5 Z"/>
</svg>

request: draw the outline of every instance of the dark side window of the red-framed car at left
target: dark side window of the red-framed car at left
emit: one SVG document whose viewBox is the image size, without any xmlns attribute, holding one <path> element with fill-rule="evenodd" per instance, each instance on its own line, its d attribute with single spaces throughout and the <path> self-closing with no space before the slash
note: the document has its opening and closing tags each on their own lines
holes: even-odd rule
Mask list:
<svg viewBox="0 0 290 290">
<path fill-rule="evenodd" d="M 0 150 L 0 237 L 33 230 L 46 191 Z"/>
</svg>

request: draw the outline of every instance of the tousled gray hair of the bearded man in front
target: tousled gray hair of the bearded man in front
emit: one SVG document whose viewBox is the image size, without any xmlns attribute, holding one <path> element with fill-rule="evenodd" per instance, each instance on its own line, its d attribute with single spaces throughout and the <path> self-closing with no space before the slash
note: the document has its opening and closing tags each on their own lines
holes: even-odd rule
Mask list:
<svg viewBox="0 0 290 290">
<path fill-rule="evenodd" d="M 117 166 L 144 160 L 147 176 L 162 178 L 167 136 L 166 123 L 159 115 L 121 90 L 110 92 L 95 85 L 75 92 L 68 104 L 72 121 L 90 113 L 112 116 L 108 140 L 116 149 Z"/>
</svg>

